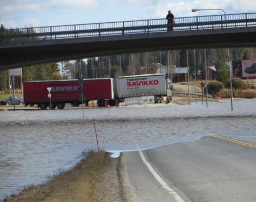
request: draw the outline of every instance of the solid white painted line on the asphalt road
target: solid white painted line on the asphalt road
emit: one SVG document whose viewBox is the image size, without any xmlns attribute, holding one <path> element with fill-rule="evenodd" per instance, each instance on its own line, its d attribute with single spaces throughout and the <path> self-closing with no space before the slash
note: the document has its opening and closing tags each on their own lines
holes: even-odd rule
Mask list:
<svg viewBox="0 0 256 202">
<path fill-rule="evenodd" d="M 152 168 L 152 166 L 150 165 L 150 163 L 146 160 L 144 154 L 139 151 L 140 153 L 140 157 L 143 161 L 143 163 L 145 165 L 147 165 L 149 171 L 152 173 L 153 177 L 156 178 L 156 180 L 160 183 L 160 185 L 171 195 L 174 197 L 175 201 L 177 202 L 184 202 L 184 200 L 180 197 L 180 195 L 177 194 L 177 192 L 175 192 L 172 188 L 170 188 L 167 183 L 161 179 L 161 177 L 159 176 L 159 174 L 157 174 L 157 172 Z"/>
</svg>

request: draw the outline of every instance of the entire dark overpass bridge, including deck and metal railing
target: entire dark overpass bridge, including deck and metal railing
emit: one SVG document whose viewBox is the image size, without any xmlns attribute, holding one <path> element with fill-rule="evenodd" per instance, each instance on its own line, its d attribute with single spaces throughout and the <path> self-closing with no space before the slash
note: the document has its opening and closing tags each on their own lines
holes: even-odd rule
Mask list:
<svg viewBox="0 0 256 202">
<path fill-rule="evenodd" d="M 256 46 L 256 13 L 8 29 L 0 69 L 152 50 Z"/>
</svg>

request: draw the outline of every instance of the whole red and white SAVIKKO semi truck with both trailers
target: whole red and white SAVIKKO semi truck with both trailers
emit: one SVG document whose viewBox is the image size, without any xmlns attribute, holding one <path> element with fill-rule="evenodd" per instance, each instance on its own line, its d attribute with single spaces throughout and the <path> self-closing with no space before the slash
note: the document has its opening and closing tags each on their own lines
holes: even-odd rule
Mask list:
<svg viewBox="0 0 256 202">
<path fill-rule="evenodd" d="M 23 82 L 23 96 L 25 106 L 37 104 L 40 109 L 63 109 L 66 103 L 79 106 L 82 101 L 88 106 L 93 100 L 97 100 L 98 107 L 119 106 L 125 98 L 138 96 L 153 95 L 156 101 L 168 96 L 171 100 L 170 85 L 164 74 L 84 79 L 80 84 L 78 80 L 31 81 Z"/>
</svg>

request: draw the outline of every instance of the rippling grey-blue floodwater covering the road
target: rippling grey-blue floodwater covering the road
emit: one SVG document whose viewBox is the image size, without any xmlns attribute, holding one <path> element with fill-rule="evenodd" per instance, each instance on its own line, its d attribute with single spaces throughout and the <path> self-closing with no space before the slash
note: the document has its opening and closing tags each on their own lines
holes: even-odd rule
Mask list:
<svg viewBox="0 0 256 202">
<path fill-rule="evenodd" d="M 197 140 L 206 131 L 256 136 L 256 102 L 209 103 L 209 107 L 160 106 L 0 111 L 0 200 L 72 168 L 83 152 L 144 150 Z"/>
</svg>

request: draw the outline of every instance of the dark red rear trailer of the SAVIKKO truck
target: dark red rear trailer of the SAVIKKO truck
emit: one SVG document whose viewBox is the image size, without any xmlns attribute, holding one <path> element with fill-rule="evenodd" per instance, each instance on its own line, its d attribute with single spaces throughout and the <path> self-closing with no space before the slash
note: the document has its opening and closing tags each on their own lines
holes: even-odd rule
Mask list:
<svg viewBox="0 0 256 202">
<path fill-rule="evenodd" d="M 98 106 L 105 106 L 105 101 L 113 106 L 113 80 L 112 78 L 83 80 L 83 100 L 88 105 L 91 100 L 97 100 Z M 61 81 L 32 81 L 23 82 L 23 95 L 25 106 L 38 104 L 40 109 L 49 107 L 47 87 L 51 87 L 51 109 L 56 106 L 63 109 L 65 103 L 79 106 L 81 101 L 81 90 L 77 80 Z"/>
</svg>

